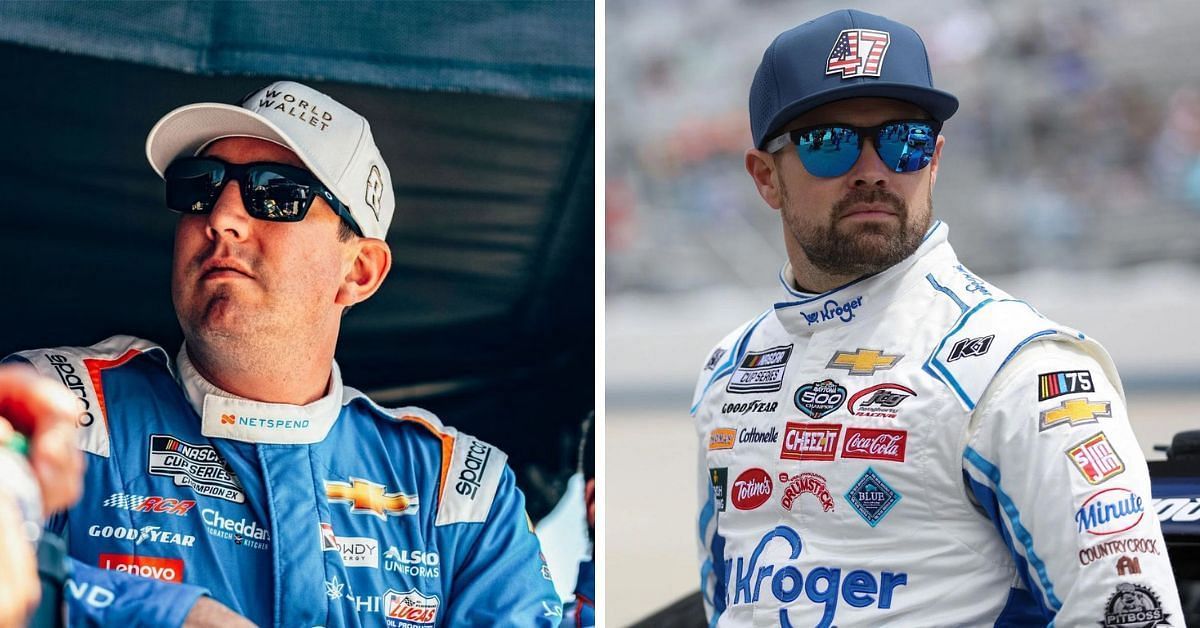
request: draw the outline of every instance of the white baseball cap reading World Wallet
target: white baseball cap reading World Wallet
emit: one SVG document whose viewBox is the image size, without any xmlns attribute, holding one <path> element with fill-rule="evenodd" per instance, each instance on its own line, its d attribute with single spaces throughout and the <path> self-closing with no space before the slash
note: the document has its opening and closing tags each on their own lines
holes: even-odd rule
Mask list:
<svg viewBox="0 0 1200 628">
<path fill-rule="evenodd" d="M 199 155 L 226 137 L 256 137 L 290 149 L 338 201 L 367 238 L 384 239 L 396 210 L 391 174 L 366 118 L 300 83 L 280 80 L 241 104 L 198 102 L 163 115 L 146 137 L 158 177 L 172 161 Z"/>
</svg>

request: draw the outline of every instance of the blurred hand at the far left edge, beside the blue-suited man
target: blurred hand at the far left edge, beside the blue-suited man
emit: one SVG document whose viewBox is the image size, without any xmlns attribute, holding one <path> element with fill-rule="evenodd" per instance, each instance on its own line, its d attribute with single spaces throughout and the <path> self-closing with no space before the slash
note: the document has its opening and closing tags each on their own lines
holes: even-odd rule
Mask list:
<svg viewBox="0 0 1200 628">
<path fill-rule="evenodd" d="M 84 459 L 76 444 L 82 409 L 79 397 L 53 379 L 28 366 L 0 365 L 0 417 L 30 436 L 43 516 L 73 504 L 83 491 Z"/>
</svg>

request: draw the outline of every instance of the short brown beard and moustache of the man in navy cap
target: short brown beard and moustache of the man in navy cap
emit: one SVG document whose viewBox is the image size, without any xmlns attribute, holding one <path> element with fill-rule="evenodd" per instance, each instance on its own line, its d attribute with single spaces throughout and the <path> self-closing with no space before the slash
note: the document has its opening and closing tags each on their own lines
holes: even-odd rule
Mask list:
<svg viewBox="0 0 1200 628">
<path fill-rule="evenodd" d="M 803 225 L 792 220 L 792 208 L 787 189 L 782 189 L 784 222 L 792 238 L 817 270 L 830 275 L 854 277 L 874 275 L 894 267 L 911 256 L 920 246 L 934 215 L 932 190 L 929 192 L 928 210 L 913 221 L 908 220 L 908 204 L 899 196 L 880 189 L 853 190 L 834 204 L 829 223 Z M 840 219 L 858 203 L 887 203 L 900 220 L 899 229 L 892 225 L 859 225 L 852 233 L 838 231 Z"/>
</svg>

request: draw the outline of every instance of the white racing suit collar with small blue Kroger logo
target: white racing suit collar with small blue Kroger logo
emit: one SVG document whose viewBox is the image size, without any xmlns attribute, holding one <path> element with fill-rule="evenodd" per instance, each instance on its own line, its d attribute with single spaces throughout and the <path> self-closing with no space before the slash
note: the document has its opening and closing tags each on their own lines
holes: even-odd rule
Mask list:
<svg viewBox="0 0 1200 628">
<path fill-rule="evenodd" d="M 876 310 L 882 310 L 893 301 L 893 297 L 905 289 L 907 282 L 901 277 L 930 257 L 935 250 L 944 250 L 954 256 L 947 243 L 949 227 L 942 221 L 934 221 L 925 239 L 913 255 L 899 264 L 866 277 L 860 277 L 829 292 L 814 294 L 796 289 L 796 280 L 790 262 L 779 271 L 779 282 L 786 294 L 785 300 L 775 304 L 775 316 L 791 334 L 811 334 L 848 324 Z M 937 255 L 941 255 L 938 251 Z"/>
</svg>

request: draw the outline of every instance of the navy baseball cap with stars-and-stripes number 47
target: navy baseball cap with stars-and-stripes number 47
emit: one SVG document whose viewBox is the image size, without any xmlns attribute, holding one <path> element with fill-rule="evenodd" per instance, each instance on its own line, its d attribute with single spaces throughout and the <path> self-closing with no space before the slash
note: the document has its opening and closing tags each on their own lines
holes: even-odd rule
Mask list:
<svg viewBox="0 0 1200 628">
<path fill-rule="evenodd" d="M 959 100 L 934 89 L 929 54 L 917 31 L 852 8 L 784 31 L 762 54 L 750 85 L 754 145 L 802 113 L 845 98 L 911 102 L 946 121 Z"/>
</svg>

